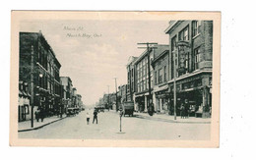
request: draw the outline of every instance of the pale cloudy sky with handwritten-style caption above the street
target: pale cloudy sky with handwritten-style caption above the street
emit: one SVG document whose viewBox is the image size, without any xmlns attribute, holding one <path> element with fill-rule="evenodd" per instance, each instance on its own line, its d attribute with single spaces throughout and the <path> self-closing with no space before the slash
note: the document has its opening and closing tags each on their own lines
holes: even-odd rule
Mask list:
<svg viewBox="0 0 256 160">
<path fill-rule="evenodd" d="M 20 31 L 41 30 L 61 64 L 60 77 L 70 77 L 86 105 L 127 83 L 130 56 L 144 50 L 137 43 L 168 44 L 168 21 L 37 20 L 21 22 Z M 141 46 L 140 46 L 141 47 Z"/>
</svg>

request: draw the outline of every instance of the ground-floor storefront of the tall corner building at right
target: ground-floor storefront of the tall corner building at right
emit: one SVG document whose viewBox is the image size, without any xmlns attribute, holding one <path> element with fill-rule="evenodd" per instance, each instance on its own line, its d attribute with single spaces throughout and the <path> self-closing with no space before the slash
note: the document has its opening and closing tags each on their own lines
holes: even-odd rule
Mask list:
<svg viewBox="0 0 256 160">
<path fill-rule="evenodd" d="M 199 73 L 176 81 L 176 114 L 180 115 L 180 106 L 187 99 L 190 116 L 209 117 L 212 109 L 212 75 Z M 169 83 L 170 114 L 173 115 L 173 82 Z"/>
</svg>

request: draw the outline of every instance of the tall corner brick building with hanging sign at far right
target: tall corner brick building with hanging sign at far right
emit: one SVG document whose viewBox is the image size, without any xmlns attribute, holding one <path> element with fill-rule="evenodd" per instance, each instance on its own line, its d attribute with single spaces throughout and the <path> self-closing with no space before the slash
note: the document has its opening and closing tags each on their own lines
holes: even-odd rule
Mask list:
<svg viewBox="0 0 256 160">
<path fill-rule="evenodd" d="M 213 21 L 170 21 L 165 33 L 169 35 L 170 51 L 169 113 L 173 114 L 175 79 L 177 115 L 181 103 L 187 99 L 192 115 L 209 117 L 212 109 Z"/>
</svg>

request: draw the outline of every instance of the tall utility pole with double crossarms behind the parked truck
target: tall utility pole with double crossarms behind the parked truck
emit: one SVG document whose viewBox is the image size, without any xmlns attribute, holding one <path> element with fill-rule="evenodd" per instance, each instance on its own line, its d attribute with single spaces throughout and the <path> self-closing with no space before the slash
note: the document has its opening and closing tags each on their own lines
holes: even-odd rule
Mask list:
<svg viewBox="0 0 256 160">
<path fill-rule="evenodd" d="M 149 98 L 148 98 L 148 105 L 149 105 L 149 107 L 151 107 L 150 106 L 150 103 L 151 103 L 151 98 L 152 98 L 152 94 L 151 94 L 151 54 L 150 54 L 150 49 L 151 48 L 157 48 L 157 47 L 150 47 L 150 45 L 157 45 L 158 43 L 156 43 L 156 42 L 147 42 L 147 43 L 137 43 L 138 45 L 147 45 L 147 54 L 148 54 L 148 77 L 149 77 Z M 138 48 L 145 48 L 145 47 L 138 47 Z M 149 111 L 148 111 L 149 112 Z M 153 113 L 150 113 L 149 112 L 149 114 L 152 116 L 153 115 Z"/>
</svg>

